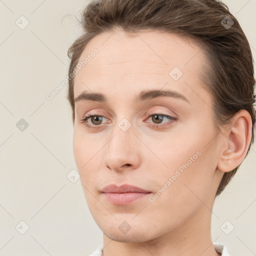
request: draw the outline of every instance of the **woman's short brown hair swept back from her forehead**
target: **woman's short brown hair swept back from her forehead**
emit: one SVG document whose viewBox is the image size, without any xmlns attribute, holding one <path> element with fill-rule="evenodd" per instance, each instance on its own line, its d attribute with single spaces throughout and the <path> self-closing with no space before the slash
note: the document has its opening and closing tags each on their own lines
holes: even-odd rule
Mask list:
<svg viewBox="0 0 256 256">
<path fill-rule="evenodd" d="M 254 73 L 248 40 L 228 7 L 217 0 L 93 0 L 81 13 L 84 33 L 68 48 L 71 58 L 67 98 L 74 122 L 74 77 L 70 76 L 86 44 L 95 35 L 120 28 L 125 32 L 155 29 L 178 33 L 203 45 L 210 68 L 203 78 L 213 96 L 216 128 L 230 123 L 239 110 L 249 112 L 254 141 Z M 228 16 L 228 17 L 227 17 Z M 230 27 L 224 26 L 225 23 Z M 232 24 L 233 22 L 233 24 Z M 245 156 L 246 156 L 245 155 Z M 237 171 L 225 172 L 216 191 L 219 195 Z"/>
</svg>

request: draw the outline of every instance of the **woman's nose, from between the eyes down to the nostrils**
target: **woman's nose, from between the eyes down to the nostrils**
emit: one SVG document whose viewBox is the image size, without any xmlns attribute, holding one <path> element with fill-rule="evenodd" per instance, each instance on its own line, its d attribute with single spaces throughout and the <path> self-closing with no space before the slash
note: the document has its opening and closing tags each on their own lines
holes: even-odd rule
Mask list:
<svg viewBox="0 0 256 256">
<path fill-rule="evenodd" d="M 111 139 L 106 145 L 104 164 L 114 171 L 135 169 L 140 164 L 141 142 L 133 133 L 132 126 L 126 131 L 120 127 L 116 124 L 112 130 Z"/>
</svg>

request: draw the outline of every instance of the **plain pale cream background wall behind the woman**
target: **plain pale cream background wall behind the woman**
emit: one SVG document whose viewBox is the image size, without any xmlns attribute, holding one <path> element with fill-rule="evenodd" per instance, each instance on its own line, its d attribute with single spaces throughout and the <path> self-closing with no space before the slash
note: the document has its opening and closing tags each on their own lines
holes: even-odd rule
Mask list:
<svg viewBox="0 0 256 256">
<path fill-rule="evenodd" d="M 256 0 L 224 2 L 255 58 Z M 80 180 L 66 176 L 76 169 L 67 85 L 46 98 L 67 75 L 66 51 L 81 32 L 74 15 L 86 3 L 0 0 L 0 255 L 86 256 L 102 243 Z M 21 15 L 29 21 L 24 29 Z M 21 118 L 29 124 L 23 131 Z M 255 159 L 254 145 L 213 208 L 212 240 L 232 256 L 256 255 Z M 24 234 L 21 220 L 29 226 Z M 226 220 L 225 232 L 234 226 L 229 234 L 221 229 Z"/>
</svg>

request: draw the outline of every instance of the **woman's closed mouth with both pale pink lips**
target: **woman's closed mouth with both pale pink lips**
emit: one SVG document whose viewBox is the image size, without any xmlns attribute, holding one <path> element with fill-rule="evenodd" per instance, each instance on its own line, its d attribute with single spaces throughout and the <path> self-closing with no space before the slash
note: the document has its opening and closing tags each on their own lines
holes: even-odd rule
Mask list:
<svg viewBox="0 0 256 256">
<path fill-rule="evenodd" d="M 105 186 L 101 192 L 104 194 L 106 200 L 112 204 L 129 204 L 151 193 L 150 191 L 129 184 L 122 184 L 121 186 L 110 184 Z"/>
</svg>

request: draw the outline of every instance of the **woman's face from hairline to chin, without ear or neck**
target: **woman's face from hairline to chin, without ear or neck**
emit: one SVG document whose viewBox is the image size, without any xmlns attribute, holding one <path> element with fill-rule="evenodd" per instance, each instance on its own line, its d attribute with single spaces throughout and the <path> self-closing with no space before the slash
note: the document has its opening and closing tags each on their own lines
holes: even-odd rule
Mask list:
<svg viewBox="0 0 256 256">
<path fill-rule="evenodd" d="M 220 181 L 202 50 L 175 34 L 137 34 L 95 36 L 74 79 L 73 152 L 84 195 L 104 234 L 126 242 L 160 237 L 205 213 Z M 109 184 L 147 193 L 102 192 Z"/>
</svg>

